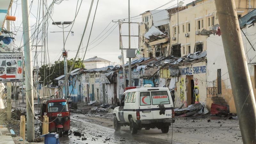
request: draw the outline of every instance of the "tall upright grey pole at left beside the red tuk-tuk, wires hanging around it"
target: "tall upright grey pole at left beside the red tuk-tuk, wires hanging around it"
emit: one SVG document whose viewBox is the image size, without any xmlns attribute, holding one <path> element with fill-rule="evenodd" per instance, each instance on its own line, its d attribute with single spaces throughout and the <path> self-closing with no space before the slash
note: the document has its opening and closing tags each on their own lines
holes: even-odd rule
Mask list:
<svg viewBox="0 0 256 144">
<path fill-rule="evenodd" d="M 34 142 L 35 130 L 34 130 L 34 100 L 33 100 L 33 88 L 30 84 L 32 81 L 32 65 L 31 65 L 31 51 L 30 51 L 30 24 L 28 15 L 28 0 L 21 0 L 22 8 L 22 26 L 23 26 L 23 43 L 24 43 L 24 63 L 27 70 L 25 73 L 25 85 L 26 85 L 26 107 L 27 107 L 27 141 Z"/>
</svg>

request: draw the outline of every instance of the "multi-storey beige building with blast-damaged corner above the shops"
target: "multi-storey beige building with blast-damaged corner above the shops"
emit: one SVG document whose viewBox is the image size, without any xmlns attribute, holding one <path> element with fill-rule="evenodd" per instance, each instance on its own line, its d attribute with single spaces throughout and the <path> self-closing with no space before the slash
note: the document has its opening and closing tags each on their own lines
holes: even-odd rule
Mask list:
<svg viewBox="0 0 256 144">
<path fill-rule="evenodd" d="M 255 0 L 235 0 L 238 18 L 256 8 Z M 219 26 L 214 0 L 196 0 L 186 6 L 141 14 L 140 50 L 143 57 L 206 51 L 206 38 Z"/>
</svg>

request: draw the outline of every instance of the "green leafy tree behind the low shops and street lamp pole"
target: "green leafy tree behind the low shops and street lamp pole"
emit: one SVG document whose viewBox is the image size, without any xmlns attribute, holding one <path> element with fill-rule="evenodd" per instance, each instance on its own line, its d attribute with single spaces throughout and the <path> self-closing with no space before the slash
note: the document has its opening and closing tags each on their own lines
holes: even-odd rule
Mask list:
<svg viewBox="0 0 256 144">
<path fill-rule="evenodd" d="M 68 67 L 68 71 L 70 70 L 73 62 L 74 62 L 73 58 L 67 61 L 67 63 L 68 63 L 68 66 L 67 66 Z M 74 70 L 76 68 L 80 68 L 82 63 L 83 63 L 83 61 L 80 58 L 78 60 L 76 60 L 72 70 Z M 54 64 L 55 65 L 52 66 L 52 67 L 49 67 L 49 65 L 43 65 L 41 68 L 39 68 L 38 75 L 40 76 L 40 81 L 41 81 L 40 83 L 41 84 L 46 85 L 46 84 L 52 83 L 53 85 L 58 85 L 56 83 L 56 81 L 53 81 L 53 79 L 55 79 L 55 78 L 57 78 L 59 76 L 64 75 L 64 61 L 63 60 L 60 61 L 60 62 L 59 61 L 55 61 Z M 84 64 L 82 64 L 82 68 L 84 68 Z M 45 79 L 45 77 L 47 77 L 47 78 Z"/>
</svg>

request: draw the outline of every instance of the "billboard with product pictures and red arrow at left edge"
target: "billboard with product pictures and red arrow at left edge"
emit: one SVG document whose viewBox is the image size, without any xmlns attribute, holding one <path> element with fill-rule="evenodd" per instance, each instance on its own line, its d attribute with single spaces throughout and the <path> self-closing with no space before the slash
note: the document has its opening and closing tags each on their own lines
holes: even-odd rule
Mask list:
<svg viewBox="0 0 256 144">
<path fill-rule="evenodd" d="M 22 54 L 18 52 L 0 53 L 0 82 L 20 82 L 23 77 Z"/>
</svg>

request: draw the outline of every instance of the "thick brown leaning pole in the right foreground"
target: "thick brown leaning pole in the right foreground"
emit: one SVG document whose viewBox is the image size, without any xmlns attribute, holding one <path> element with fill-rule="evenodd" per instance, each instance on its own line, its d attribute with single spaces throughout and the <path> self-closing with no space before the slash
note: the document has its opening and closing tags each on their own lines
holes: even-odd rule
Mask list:
<svg viewBox="0 0 256 144">
<path fill-rule="evenodd" d="M 215 5 L 243 143 L 256 143 L 256 102 L 236 5 L 234 0 L 215 0 Z"/>
</svg>

